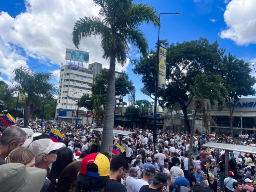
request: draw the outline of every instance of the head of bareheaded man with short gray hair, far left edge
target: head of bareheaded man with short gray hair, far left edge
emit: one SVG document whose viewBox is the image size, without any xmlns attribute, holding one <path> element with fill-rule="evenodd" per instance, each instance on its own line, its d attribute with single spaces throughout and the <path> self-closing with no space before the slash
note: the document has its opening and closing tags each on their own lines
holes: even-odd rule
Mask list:
<svg viewBox="0 0 256 192">
<path fill-rule="evenodd" d="M 25 143 L 26 136 L 26 132 L 17 126 L 6 128 L 0 139 L 0 165 L 5 164 L 5 158 L 13 149 Z"/>
</svg>

